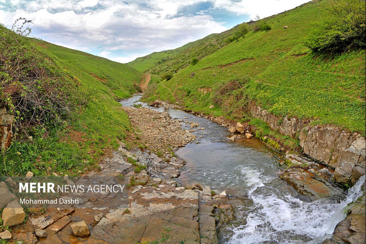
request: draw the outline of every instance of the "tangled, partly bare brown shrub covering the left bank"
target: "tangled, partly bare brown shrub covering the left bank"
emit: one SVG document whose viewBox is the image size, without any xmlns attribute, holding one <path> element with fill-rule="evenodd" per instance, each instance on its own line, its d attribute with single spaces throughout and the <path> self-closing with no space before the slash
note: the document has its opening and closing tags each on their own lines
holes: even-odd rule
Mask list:
<svg viewBox="0 0 366 244">
<path fill-rule="evenodd" d="M 33 126 L 66 125 L 76 106 L 91 98 L 80 95 L 78 80 L 24 37 L 31 32 L 23 29 L 26 23 L 31 21 L 19 18 L 11 30 L 0 25 L 0 107 L 14 115 L 15 130 L 25 134 Z"/>
</svg>

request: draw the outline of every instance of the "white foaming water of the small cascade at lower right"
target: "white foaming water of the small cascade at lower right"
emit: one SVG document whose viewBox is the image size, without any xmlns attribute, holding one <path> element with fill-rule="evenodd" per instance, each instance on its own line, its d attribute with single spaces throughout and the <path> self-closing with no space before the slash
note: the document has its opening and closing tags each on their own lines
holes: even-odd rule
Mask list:
<svg viewBox="0 0 366 244">
<path fill-rule="evenodd" d="M 269 182 L 269 177 L 259 172 L 262 171 L 251 167 L 242 170 L 247 185 L 252 187 L 248 196 L 253 200 L 254 207 L 246 225 L 232 228 L 234 234 L 228 243 L 254 244 L 268 240 L 278 243 L 321 243 L 346 217 L 344 208 L 347 204 L 362 195 L 361 186 L 365 182 L 364 175 L 340 203 L 330 199 L 304 202 L 264 184 Z"/>
</svg>

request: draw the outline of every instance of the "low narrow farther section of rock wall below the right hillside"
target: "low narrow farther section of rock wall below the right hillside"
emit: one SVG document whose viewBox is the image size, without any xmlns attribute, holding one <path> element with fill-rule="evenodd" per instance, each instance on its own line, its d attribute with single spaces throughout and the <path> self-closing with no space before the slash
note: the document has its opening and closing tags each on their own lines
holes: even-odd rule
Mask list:
<svg viewBox="0 0 366 244">
<path fill-rule="evenodd" d="M 249 104 L 249 110 L 254 118 L 262 119 L 272 130 L 278 130 L 280 133 L 296 138 L 297 134 L 307 125 L 310 120 L 298 119 L 285 116 L 284 118 L 271 114 L 255 103 Z"/>
</svg>

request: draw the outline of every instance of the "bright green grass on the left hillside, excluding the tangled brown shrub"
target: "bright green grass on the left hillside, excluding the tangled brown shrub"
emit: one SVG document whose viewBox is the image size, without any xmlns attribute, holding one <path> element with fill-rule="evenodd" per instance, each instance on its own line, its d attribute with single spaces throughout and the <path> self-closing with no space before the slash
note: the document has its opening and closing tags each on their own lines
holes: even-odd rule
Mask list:
<svg viewBox="0 0 366 244">
<path fill-rule="evenodd" d="M 14 141 L 0 153 L 0 175 L 25 175 L 27 171 L 35 176 L 52 171 L 72 175 L 96 168 L 101 157 L 117 149 L 118 142 L 132 131 L 126 112 L 116 100 L 135 93 L 134 84 L 141 81 L 142 73 L 85 52 L 28 40 L 93 96 L 63 127 L 34 127 L 30 132 L 33 142 Z M 51 171 L 46 170 L 49 168 Z"/>
</svg>

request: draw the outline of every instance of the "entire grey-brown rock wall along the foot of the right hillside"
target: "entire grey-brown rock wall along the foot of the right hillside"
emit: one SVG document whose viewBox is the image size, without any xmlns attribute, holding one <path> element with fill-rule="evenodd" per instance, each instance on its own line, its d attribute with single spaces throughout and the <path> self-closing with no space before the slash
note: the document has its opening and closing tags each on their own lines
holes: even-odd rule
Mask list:
<svg viewBox="0 0 366 244">
<path fill-rule="evenodd" d="M 249 104 L 253 117 L 262 119 L 273 130 L 300 139 L 305 154 L 335 169 L 334 180 L 341 184 L 354 184 L 365 174 L 365 137 L 349 133 L 334 126 L 310 126 L 310 120 L 275 116 Z"/>
</svg>

